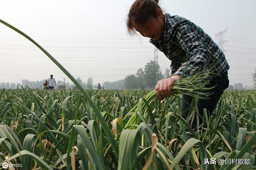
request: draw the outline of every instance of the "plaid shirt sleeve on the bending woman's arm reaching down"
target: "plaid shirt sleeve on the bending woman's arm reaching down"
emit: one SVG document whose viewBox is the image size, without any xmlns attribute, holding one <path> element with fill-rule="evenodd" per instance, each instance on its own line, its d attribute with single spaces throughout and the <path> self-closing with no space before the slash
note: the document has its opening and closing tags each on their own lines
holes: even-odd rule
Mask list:
<svg viewBox="0 0 256 170">
<path fill-rule="evenodd" d="M 189 23 L 180 24 L 176 29 L 175 39 L 176 43 L 186 51 L 187 62 L 181 64 L 172 75 L 182 76 L 186 70 L 184 76 L 192 76 L 194 72 L 204 70 L 208 66 L 210 51 L 200 41 L 196 27 Z M 173 68 L 176 69 L 177 67 L 178 64 L 174 63 Z"/>
</svg>

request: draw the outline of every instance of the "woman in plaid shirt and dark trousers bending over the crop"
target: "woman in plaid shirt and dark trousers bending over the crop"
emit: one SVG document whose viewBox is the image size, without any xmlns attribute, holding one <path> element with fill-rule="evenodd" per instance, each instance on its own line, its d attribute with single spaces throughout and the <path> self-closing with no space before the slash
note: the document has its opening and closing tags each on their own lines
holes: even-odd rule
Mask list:
<svg viewBox="0 0 256 170">
<path fill-rule="evenodd" d="M 170 65 L 170 78 L 159 80 L 156 84 L 156 95 L 163 99 L 171 95 L 172 85 L 182 75 L 192 76 L 198 71 L 206 72 L 209 66 L 214 65 L 210 72 L 215 73 L 209 76 L 210 84 L 206 87 L 213 87 L 213 93 L 208 100 L 198 100 L 199 125 L 202 121 L 203 109 L 206 108 L 210 114 L 223 94 L 228 88 L 228 69 L 230 68 L 224 53 L 212 38 L 202 28 L 192 21 L 180 16 L 164 14 L 158 5 L 158 0 L 136 0 L 129 11 L 127 28 L 129 33 L 138 31 L 143 37 L 149 37 L 150 43 L 164 53 L 172 62 Z M 182 96 L 182 111 L 188 115 L 188 107 L 192 97 Z M 192 128 L 196 127 L 196 115 L 188 122 Z"/>
</svg>

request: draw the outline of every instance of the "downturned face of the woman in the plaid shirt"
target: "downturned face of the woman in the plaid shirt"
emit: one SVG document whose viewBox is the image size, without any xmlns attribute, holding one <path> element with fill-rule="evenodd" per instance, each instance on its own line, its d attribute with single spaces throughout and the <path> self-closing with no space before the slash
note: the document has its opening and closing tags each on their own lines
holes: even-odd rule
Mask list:
<svg viewBox="0 0 256 170">
<path fill-rule="evenodd" d="M 149 18 L 148 21 L 146 21 L 144 24 L 132 22 L 132 26 L 143 37 L 149 37 L 154 40 L 158 40 L 164 31 L 164 18 L 161 14 L 158 15 L 157 18 Z"/>
</svg>

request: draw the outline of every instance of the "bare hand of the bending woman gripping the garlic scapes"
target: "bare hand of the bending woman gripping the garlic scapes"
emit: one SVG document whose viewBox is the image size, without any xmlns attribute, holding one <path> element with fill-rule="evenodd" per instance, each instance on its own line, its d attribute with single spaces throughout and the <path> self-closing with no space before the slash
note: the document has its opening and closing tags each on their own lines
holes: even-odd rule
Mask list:
<svg viewBox="0 0 256 170">
<path fill-rule="evenodd" d="M 158 96 L 160 100 L 169 97 L 172 93 L 172 85 L 178 80 L 180 80 L 179 75 L 174 75 L 171 78 L 159 80 L 155 88 L 156 96 Z"/>
</svg>

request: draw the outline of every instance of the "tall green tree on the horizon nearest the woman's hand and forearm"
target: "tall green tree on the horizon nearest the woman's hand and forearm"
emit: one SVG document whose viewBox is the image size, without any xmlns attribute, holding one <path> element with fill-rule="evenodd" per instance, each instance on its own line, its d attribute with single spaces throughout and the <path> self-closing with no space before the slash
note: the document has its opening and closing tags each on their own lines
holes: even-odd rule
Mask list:
<svg viewBox="0 0 256 170">
<path fill-rule="evenodd" d="M 153 60 L 145 65 L 144 73 L 144 85 L 149 88 L 154 88 L 158 80 L 163 78 L 159 64 Z"/>
</svg>

